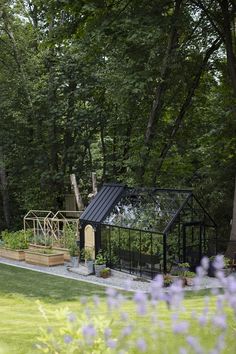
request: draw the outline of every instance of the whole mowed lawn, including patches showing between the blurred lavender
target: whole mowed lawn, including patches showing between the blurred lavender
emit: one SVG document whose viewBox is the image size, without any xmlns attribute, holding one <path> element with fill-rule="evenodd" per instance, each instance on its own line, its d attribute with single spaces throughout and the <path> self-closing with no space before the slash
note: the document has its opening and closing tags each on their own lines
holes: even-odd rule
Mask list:
<svg viewBox="0 0 236 354">
<path fill-rule="evenodd" d="M 34 344 L 39 336 L 39 328 L 60 325 L 53 317 L 53 313 L 58 308 L 68 307 L 71 312 L 79 316 L 80 311 L 82 311 L 80 299 L 85 298 L 87 303 L 91 303 L 92 306 L 94 295 L 99 296 L 100 305 L 93 307 L 93 311 L 97 311 L 98 316 L 101 313 L 109 316 L 106 307 L 105 288 L 102 286 L 0 264 L 0 354 L 34 353 Z M 188 293 L 184 301 L 186 311 L 181 317 L 189 319 L 193 311 L 201 312 L 205 307 L 205 295 L 210 295 L 210 293 L 206 291 L 198 294 Z M 130 299 L 131 295 L 128 294 L 128 297 Z M 45 323 L 40 314 L 37 300 L 40 300 L 44 309 L 49 313 L 49 323 Z M 214 297 L 210 296 L 208 306 L 210 312 L 215 311 Z M 124 311 L 128 312 L 129 317 L 137 323 L 137 326 L 139 323 L 142 328 L 145 328 L 145 325 L 150 326 L 150 318 L 137 317 L 135 306 L 131 300 L 125 302 Z M 173 348 L 176 352 L 175 336 L 171 333 L 170 317 L 170 310 L 165 304 L 162 304 L 158 308 L 158 318 L 165 323 L 162 341 L 168 343 L 169 348 Z M 228 345 L 225 353 L 236 352 L 235 323 L 231 313 L 229 314 L 229 322 Z M 116 330 L 119 331 L 122 325 L 122 321 L 117 315 Z M 212 340 L 214 333 L 208 332 L 207 329 L 203 331 L 196 324 L 194 326 L 194 333 L 200 334 L 204 342 L 209 341 L 209 339 Z M 180 342 L 183 340 L 184 338 L 180 338 Z M 172 354 L 171 351 L 172 349 L 168 351 L 168 354 Z M 158 352 L 162 353 L 162 351 L 157 350 Z"/>
</svg>

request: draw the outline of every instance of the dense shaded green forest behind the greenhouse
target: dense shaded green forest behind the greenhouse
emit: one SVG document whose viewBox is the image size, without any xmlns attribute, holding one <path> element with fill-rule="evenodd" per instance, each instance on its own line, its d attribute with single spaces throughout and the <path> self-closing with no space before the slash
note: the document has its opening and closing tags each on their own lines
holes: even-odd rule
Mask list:
<svg viewBox="0 0 236 354">
<path fill-rule="evenodd" d="M 229 238 L 234 0 L 0 0 L 0 229 L 75 173 L 192 188 Z"/>
</svg>

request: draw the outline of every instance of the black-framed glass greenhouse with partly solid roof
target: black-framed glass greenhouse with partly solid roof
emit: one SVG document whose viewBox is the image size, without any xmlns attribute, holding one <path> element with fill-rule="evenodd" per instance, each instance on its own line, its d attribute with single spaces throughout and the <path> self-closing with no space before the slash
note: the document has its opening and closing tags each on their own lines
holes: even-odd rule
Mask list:
<svg viewBox="0 0 236 354">
<path fill-rule="evenodd" d="M 153 278 L 217 251 L 216 223 L 191 190 L 106 184 L 80 217 L 81 245 L 111 268 Z"/>
</svg>

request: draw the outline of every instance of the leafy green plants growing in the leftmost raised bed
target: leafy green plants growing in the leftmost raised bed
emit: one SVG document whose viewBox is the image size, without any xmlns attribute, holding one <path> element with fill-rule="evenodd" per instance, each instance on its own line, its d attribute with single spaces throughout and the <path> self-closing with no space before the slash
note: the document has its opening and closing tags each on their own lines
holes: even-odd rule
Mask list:
<svg viewBox="0 0 236 354">
<path fill-rule="evenodd" d="M 16 232 L 2 232 L 2 240 L 4 242 L 4 246 L 13 250 L 22 250 L 28 248 L 31 239 L 32 233 L 30 231 L 19 230 Z"/>
</svg>

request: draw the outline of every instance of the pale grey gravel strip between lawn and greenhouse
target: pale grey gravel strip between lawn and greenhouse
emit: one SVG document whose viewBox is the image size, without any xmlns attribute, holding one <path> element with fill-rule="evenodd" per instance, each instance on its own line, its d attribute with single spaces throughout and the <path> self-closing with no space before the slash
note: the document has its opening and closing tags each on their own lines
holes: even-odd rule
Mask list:
<svg viewBox="0 0 236 354">
<path fill-rule="evenodd" d="M 68 279 L 80 280 L 92 284 L 108 286 L 116 289 L 131 290 L 131 291 L 144 291 L 149 290 L 150 281 L 141 281 L 140 278 L 135 277 L 127 273 L 112 270 L 112 276 L 106 279 L 96 277 L 95 275 L 86 275 L 84 266 L 78 268 L 69 268 L 69 263 L 56 267 L 43 267 L 38 265 L 31 265 L 22 261 L 15 261 L 11 259 L 5 259 L 0 257 L 0 263 L 12 265 L 14 267 L 20 267 L 24 269 L 30 269 L 36 272 L 56 275 Z M 135 280 L 136 279 L 136 280 Z M 201 289 L 207 288 L 219 288 L 220 283 L 218 279 L 205 277 L 201 284 Z M 191 286 L 185 288 L 186 290 L 192 290 Z"/>
</svg>

